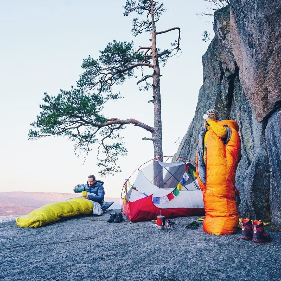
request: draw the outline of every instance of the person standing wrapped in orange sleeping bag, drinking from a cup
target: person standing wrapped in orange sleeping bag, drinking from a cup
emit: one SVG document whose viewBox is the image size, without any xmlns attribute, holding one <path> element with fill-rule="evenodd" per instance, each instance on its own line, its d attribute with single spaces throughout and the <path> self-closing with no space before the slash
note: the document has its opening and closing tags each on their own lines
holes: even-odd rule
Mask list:
<svg viewBox="0 0 281 281">
<path fill-rule="evenodd" d="M 210 109 L 207 115 L 196 151 L 197 180 L 206 213 L 203 229 L 216 235 L 232 234 L 239 223 L 234 191 L 241 158 L 239 126 L 233 120 L 218 120 L 217 110 Z"/>
</svg>

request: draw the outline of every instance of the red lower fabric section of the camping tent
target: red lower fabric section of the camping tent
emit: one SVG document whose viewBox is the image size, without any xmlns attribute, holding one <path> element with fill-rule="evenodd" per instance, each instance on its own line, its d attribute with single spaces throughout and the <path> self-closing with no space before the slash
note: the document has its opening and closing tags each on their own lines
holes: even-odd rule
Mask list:
<svg viewBox="0 0 281 281">
<path fill-rule="evenodd" d="M 169 208 L 160 209 L 152 203 L 152 197 L 142 198 L 134 202 L 123 203 L 123 213 L 130 221 L 148 221 L 157 219 L 160 214 L 165 219 L 182 216 L 204 216 L 204 208 Z"/>
</svg>

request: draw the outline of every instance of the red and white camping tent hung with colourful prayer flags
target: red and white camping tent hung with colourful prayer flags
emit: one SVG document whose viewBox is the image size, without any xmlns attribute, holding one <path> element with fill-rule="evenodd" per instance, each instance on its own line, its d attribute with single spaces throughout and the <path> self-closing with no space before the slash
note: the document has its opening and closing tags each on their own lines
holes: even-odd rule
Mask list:
<svg viewBox="0 0 281 281">
<path fill-rule="evenodd" d="M 205 214 L 202 191 L 190 163 L 154 161 L 124 183 L 123 213 L 130 221 Z"/>
</svg>

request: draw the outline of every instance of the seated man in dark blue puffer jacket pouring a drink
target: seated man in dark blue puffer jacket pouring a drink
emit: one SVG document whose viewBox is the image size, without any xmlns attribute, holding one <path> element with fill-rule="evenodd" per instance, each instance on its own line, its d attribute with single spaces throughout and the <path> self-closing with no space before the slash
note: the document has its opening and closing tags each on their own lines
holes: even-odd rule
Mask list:
<svg viewBox="0 0 281 281">
<path fill-rule="evenodd" d="M 96 177 L 94 175 L 89 175 L 88 182 L 85 185 L 76 185 L 73 191 L 75 193 L 87 191 L 87 194 L 83 197 L 98 202 L 102 206 L 105 198 L 105 190 L 103 188 L 103 184 L 104 182 L 101 180 L 96 180 Z"/>
</svg>

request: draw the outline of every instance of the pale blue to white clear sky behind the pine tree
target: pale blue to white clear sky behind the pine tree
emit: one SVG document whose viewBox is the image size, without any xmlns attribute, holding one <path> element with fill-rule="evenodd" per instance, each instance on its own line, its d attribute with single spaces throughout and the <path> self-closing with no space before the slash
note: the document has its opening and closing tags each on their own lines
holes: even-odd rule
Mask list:
<svg viewBox="0 0 281 281">
<path fill-rule="evenodd" d="M 124 180 L 153 158 L 151 137 L 145 130 L 128 125 L 122 136 L 128 149 L 119 158 L 121 173 L 98 176 L 96 148 L 86 162 L 74 155 L 74 143 L 66 137 L 29 140 L 30 124 L 39 114 L 44 92 L 76 86 L 83 58 L 98 58 L 108 42 L 134 41 L 150 46 L 149 33 L 133 37 L 132 17 L 123 16 L 125 0 L 104 1 L 0 1 L 0 192 L 72 193 L 76 184 L 96 175 L 105 182 L 107 197 L 120 197 Z M 206 11 L 203 0 L 167 0 L 157 31 L 181 28 L 182 55 L 170 58 L 160 69 L 163 155 L 174 155 L 178 138 L 185 135 L 195 113 L 202 85 L 202 55 L 208 44 L 204 30 L 213 38 L 210 19 L 196 13 Z M 177 39 L 177 31 L 158 35 L 157 47 L 166 49 Z M 137 73 L 137 72 L 136 72 Z M 135 118 L 153 126 L 152 92 L 140 92 L 139 79 L 115 88 L 123 99 L 109 103 L 103 114 L 120 119 Z M 136 173 L 135 173 L 136 174 Z"/>
</svg>

